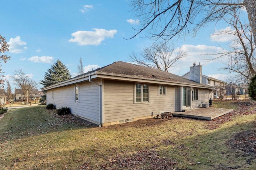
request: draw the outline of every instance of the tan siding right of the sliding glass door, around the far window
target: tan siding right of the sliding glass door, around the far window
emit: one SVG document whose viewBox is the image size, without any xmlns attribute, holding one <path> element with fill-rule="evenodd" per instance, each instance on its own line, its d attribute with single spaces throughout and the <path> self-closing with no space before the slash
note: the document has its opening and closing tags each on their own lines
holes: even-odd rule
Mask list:
<svg viewBox="0 0 256 170">
<path fill-rule="evenodd" d="M 191 107 L 197 108 L 202 104 L 202 102 L 206 103 L 208 106 L 209 99 L 211 98 L 211 96 L 212 96 L 211 91 L 209 91 L 207 89 L 198 89 L 198 101 L 192 101 Z"/>
</svg>

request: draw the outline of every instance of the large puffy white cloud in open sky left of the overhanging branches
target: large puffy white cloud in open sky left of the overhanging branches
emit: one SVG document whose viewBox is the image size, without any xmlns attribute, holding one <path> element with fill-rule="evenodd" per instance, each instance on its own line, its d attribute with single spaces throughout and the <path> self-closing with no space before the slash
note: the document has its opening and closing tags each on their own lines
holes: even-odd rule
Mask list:
<svg viewBox="0 0 256 170">
<path fill-rule="evenodd" d="M 79 45 L 100 45 L 100 43 L 106 38 L 110 37 L 113 38 L 114 35 L 117 33 L 117 30 L 111 29 L 98 29 L 94 28 L 94 31 L 76 31 L 72 33 L 72 37 L 70 42 L 76 42 Z"/>
</svg>

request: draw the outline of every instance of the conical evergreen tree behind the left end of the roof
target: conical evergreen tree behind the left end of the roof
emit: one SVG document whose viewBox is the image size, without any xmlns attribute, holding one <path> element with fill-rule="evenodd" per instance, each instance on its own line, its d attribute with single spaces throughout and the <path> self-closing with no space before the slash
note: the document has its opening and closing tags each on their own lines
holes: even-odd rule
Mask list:
<svg viewBox="0 0 256 170">
<path fill-rule="evenodd" d="M 43 88 L 63 82 L 71 78 L 71 74 L 66 66 L 60 61 L 56 61 L 51 68 L 45 72 L 44 80 L 40 80 Z"/>
</svg>

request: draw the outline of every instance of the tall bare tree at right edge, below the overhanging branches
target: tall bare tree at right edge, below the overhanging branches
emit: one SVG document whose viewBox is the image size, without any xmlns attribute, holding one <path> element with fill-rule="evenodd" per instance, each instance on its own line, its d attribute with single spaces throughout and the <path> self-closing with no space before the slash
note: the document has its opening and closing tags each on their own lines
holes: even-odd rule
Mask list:
<svg viewBox="0 0 256 170">
<path fill-rule="evenodd" d="M 231 10 L 230 16 L 232 17 L 223 18 L 230 25 L 230 29 L 223 29 L 215 34 L 234 37 L 229 50 L 211 55 L 217 55 L 216 58 L 227 56 L 228 63 L 222 69 L 236 73 L 236 80 L 240 83 L 247 83 L 256 75 L 256 50 L 252 29 L 250 25 L 240 21 L 239 14 L 236 10 Z"/>
</svg>

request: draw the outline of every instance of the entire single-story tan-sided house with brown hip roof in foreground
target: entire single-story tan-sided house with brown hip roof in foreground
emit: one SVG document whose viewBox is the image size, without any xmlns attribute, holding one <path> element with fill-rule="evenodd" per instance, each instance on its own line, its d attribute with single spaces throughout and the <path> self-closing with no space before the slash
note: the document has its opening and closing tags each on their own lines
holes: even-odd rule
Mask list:
<svg viewBox="0 0 256 170">
<path fill-rule="evenodd" d="M 214 88 L 118 61 L 42 90 L 46 104 L 69 107 L 72 114 L 107 126 L 208 105 Z"/>
</svg>

